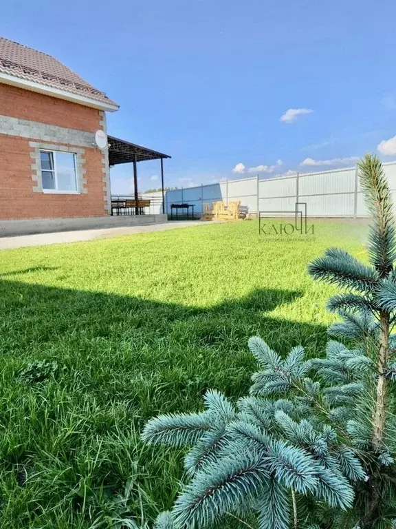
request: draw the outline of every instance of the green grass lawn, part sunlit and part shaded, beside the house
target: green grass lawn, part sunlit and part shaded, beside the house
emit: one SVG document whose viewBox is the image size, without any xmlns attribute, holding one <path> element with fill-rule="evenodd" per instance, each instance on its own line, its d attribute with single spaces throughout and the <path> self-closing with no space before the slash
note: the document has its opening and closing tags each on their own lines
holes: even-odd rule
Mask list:
<svg viewBox="0 0 396 529">
<path fill-rule="evenodd" d="M 142 424 L 207 388 L 245 393 L 251 335 L 322 351 L 334 289 L 307 262 L 362 257 L 363 231 L 266 238 L 245 221 L 1 251 L 0 526 L 122 528 L 129 510 L 143 527 L 169 508 L 182 455 L 142 446 Z M 45 382 L 33 360 L 56 362 Z"/>
</svg>

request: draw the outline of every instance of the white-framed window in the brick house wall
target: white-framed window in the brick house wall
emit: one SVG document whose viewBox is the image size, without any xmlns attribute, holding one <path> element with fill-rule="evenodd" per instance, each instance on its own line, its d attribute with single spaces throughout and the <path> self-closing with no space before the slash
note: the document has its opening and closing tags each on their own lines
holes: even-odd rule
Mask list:
<svg viewBox="0 0 396 529">
<path fill-rule="evenodd" d="M 41 182 L 48 193 L 76 193 L 76 155 L 61 151 L 40 151 Z"/>
</svg>

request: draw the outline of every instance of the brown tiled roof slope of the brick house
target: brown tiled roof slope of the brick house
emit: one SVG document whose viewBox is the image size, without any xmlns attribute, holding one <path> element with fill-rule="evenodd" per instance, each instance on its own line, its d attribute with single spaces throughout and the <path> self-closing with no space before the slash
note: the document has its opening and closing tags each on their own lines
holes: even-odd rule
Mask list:
<svg viewBox="0 0 396 529">
<path fill-rule="evenodd" d="M 0 37 L 0 72 L 117 105 L 51 55 Z"/>
</svg>

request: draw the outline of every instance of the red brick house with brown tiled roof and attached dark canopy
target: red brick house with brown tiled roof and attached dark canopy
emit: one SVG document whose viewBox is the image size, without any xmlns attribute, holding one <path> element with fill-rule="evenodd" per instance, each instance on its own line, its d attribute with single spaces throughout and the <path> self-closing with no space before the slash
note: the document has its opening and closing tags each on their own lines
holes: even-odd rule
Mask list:
<svg viewBox="0 0 396 529">
<path fill-rule="evenodd" d="M 137 198 L 136 163 L 168 156 L 110 136 L 100 149 L 118 108 L 52 56 L 0 37 L 0 222 L 109 216 L 109 156 L 133 163 Z"/>
</svg>

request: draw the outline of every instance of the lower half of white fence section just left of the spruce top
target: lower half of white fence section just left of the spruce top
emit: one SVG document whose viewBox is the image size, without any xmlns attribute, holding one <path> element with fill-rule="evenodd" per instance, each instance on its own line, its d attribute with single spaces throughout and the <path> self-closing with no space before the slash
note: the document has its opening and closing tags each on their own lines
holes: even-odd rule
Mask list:
<svg viewBox="0 0 396 529">
<path fill-rule="evenodd" d="M 298 197 L 298 202 L 307 203 L 309 217 L 353 217 L 354 194 L 314 195 Z"/>
</svg>

